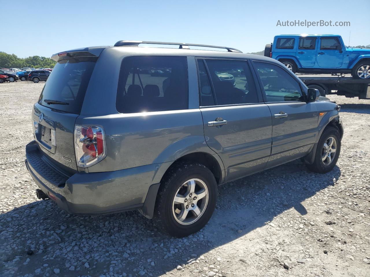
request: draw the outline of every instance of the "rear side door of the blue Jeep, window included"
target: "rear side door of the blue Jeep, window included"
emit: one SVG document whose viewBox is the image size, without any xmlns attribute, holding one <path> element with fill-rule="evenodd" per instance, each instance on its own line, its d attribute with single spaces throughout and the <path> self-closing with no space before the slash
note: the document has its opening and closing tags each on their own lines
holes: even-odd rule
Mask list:
<svg viewBox="0 0 370 277">
<path fill-rule="evenodd" d="M 312 67 L 316 62 L 316 37 L 300 37 L 296 57 L 303 67 Z"/>
</svg>

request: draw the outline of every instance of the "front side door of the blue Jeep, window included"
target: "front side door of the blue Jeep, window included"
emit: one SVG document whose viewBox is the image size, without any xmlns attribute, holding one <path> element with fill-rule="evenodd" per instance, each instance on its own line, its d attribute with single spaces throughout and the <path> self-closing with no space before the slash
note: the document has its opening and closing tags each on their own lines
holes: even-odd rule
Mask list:
<svg viewBox="0 0 370 277">
<path fill-rule="evenodd" d="M 321 37 L 317 51 L 317 65 L 322 68 L 339 68 L 343 65 L 344 50 L 338 37 Z"/>
</svg>

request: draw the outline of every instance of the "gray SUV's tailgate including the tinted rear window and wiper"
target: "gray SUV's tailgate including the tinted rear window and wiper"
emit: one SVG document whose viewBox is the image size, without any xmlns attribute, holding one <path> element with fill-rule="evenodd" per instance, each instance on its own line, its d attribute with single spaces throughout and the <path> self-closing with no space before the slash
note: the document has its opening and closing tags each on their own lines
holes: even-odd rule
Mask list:
<svg viewBox="0 0 370 277">
<path fill-rule="evenodd" d="M 73 131 L 97 58 L 64 59 L 55 65 L 32 119 L 35 139 L 45 156 L 65 170 L 77 170 Z"/>
</svg>

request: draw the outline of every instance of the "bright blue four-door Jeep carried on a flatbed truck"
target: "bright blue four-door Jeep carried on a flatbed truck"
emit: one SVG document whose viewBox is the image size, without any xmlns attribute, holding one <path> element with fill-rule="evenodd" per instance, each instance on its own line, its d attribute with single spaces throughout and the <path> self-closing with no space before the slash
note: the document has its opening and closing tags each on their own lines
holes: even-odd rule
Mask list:
<svg viewBox="0 0 370 277">
<path fill-rule="evenodd" d="M 266 57 L 294 73 L 351 73 L 370 78 L 370 49 L 349 48 L 340 35 L 277 35 L 265 47 Z"/>
</svg>

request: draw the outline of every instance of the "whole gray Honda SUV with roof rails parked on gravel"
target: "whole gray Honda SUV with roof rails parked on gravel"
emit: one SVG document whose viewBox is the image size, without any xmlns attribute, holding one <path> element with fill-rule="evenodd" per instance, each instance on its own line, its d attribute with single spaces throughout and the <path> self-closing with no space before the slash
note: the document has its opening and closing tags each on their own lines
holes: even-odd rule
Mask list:
<svg viewBox="0 0 370 277">
<path fill-rule="evenodd" d="M 325 173 L 338 160 L 339 106 L 274 59 L 149 41 L 52 58 L 26 166 L 38 198 L 67 212 L 139 210 L 182 237 L 211 218 L 218 185 L 299 158 Z"/>
</svg>

